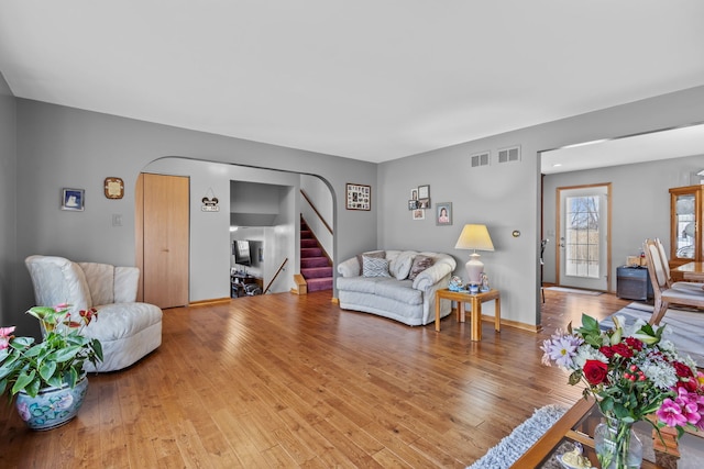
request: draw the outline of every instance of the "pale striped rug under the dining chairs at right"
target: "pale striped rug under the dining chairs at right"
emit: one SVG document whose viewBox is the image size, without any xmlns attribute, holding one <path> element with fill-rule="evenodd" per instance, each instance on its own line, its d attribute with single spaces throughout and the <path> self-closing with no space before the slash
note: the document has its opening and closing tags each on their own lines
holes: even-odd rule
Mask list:
<svg viewBox="0 0 704 469">
<path fill-rule="evenodd" d="M 626 322 L 631 324 L 637 319 L 648 322 L 652 315 L 652 306 L 644 303 L 630 303 L 602 321 L 602 327 L 613 327 L 610 320 L 614 315 L 626 317 Z M 680 355 L 689 355 L 696 365 L 704 367 L 704 311 L 685 311 L 670 309 L 664 313 L 660 325 L 667 324 L 668 330 L 663 334 L 664 338 L 672 340 Z"/>
</svg>

